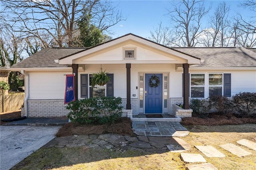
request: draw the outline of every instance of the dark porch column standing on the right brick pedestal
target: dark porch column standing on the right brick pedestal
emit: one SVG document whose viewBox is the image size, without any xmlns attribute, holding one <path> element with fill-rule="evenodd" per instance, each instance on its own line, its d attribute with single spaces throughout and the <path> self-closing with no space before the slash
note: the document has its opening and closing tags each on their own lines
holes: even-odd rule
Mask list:
<svg viewBox="0 0 256 170">
<path fill-rule="evenodd" d="M 189 109 L 189 64 L 183 64 L 183 109 Z"/>
</svg>

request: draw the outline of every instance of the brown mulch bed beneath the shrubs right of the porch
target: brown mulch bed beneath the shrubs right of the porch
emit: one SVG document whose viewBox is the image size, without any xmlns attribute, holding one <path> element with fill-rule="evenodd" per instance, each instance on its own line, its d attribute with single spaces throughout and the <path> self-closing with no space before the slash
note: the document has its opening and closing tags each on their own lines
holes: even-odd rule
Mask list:
<svg viewBox="0 0 256 170">
<path fill-rule="evenodd" d="M 217 126 L 217 125 L 239 125 L 244 123 L 256 123 L 255 118 L 237 118 L 234 115 L 211 115 L 208 118 L 200 117 L 186 117 L 182 118 L 182 125 L 206 125 L 206 126 Z"/>
</svg>

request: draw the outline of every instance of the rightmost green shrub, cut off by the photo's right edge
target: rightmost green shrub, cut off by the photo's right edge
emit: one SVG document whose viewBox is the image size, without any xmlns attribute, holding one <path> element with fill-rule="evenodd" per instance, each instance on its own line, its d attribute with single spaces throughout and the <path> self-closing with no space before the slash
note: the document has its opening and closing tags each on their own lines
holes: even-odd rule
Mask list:
<svg viewBox="0 0 256 170">
<path fill-rule="evenodd" d="M 234 107 L 242 117 L 255 117 L 256 93 L 243 92 L 232 97 Z"/>
</svg>

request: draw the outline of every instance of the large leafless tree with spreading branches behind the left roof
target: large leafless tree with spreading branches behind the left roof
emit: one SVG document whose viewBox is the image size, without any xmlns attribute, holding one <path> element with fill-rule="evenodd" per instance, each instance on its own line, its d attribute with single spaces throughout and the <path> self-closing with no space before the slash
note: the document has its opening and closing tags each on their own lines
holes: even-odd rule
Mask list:
<svg viewBox="0 0 256 170">
<path fill-rule="evenodd" d="M 112 2 L 105 0 L 1 0 L 0 5 L 2 22 L 23 38 L 40 41 L 42 48 L 72 45 L 76 22 L 84 11 L 102 32 L 123 20 Z"/>
</svg>

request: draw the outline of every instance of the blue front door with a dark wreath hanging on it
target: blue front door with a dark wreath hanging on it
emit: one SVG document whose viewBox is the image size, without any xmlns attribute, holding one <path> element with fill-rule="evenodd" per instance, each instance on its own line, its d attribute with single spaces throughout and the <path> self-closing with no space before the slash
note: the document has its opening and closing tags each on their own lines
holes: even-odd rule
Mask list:
<svg viewBox="0 0 256 170">
<path fill-rule="evenodd" d="M 159 78 L 160 83 L 157 87 L 150 86 L 150 78 L 152 76 Z M 163 74 L 145 74 L 145 113 L 162 113 L 163 103 Z M 152 83 L 156 85 L 153 79 Z"/>
</svg>

